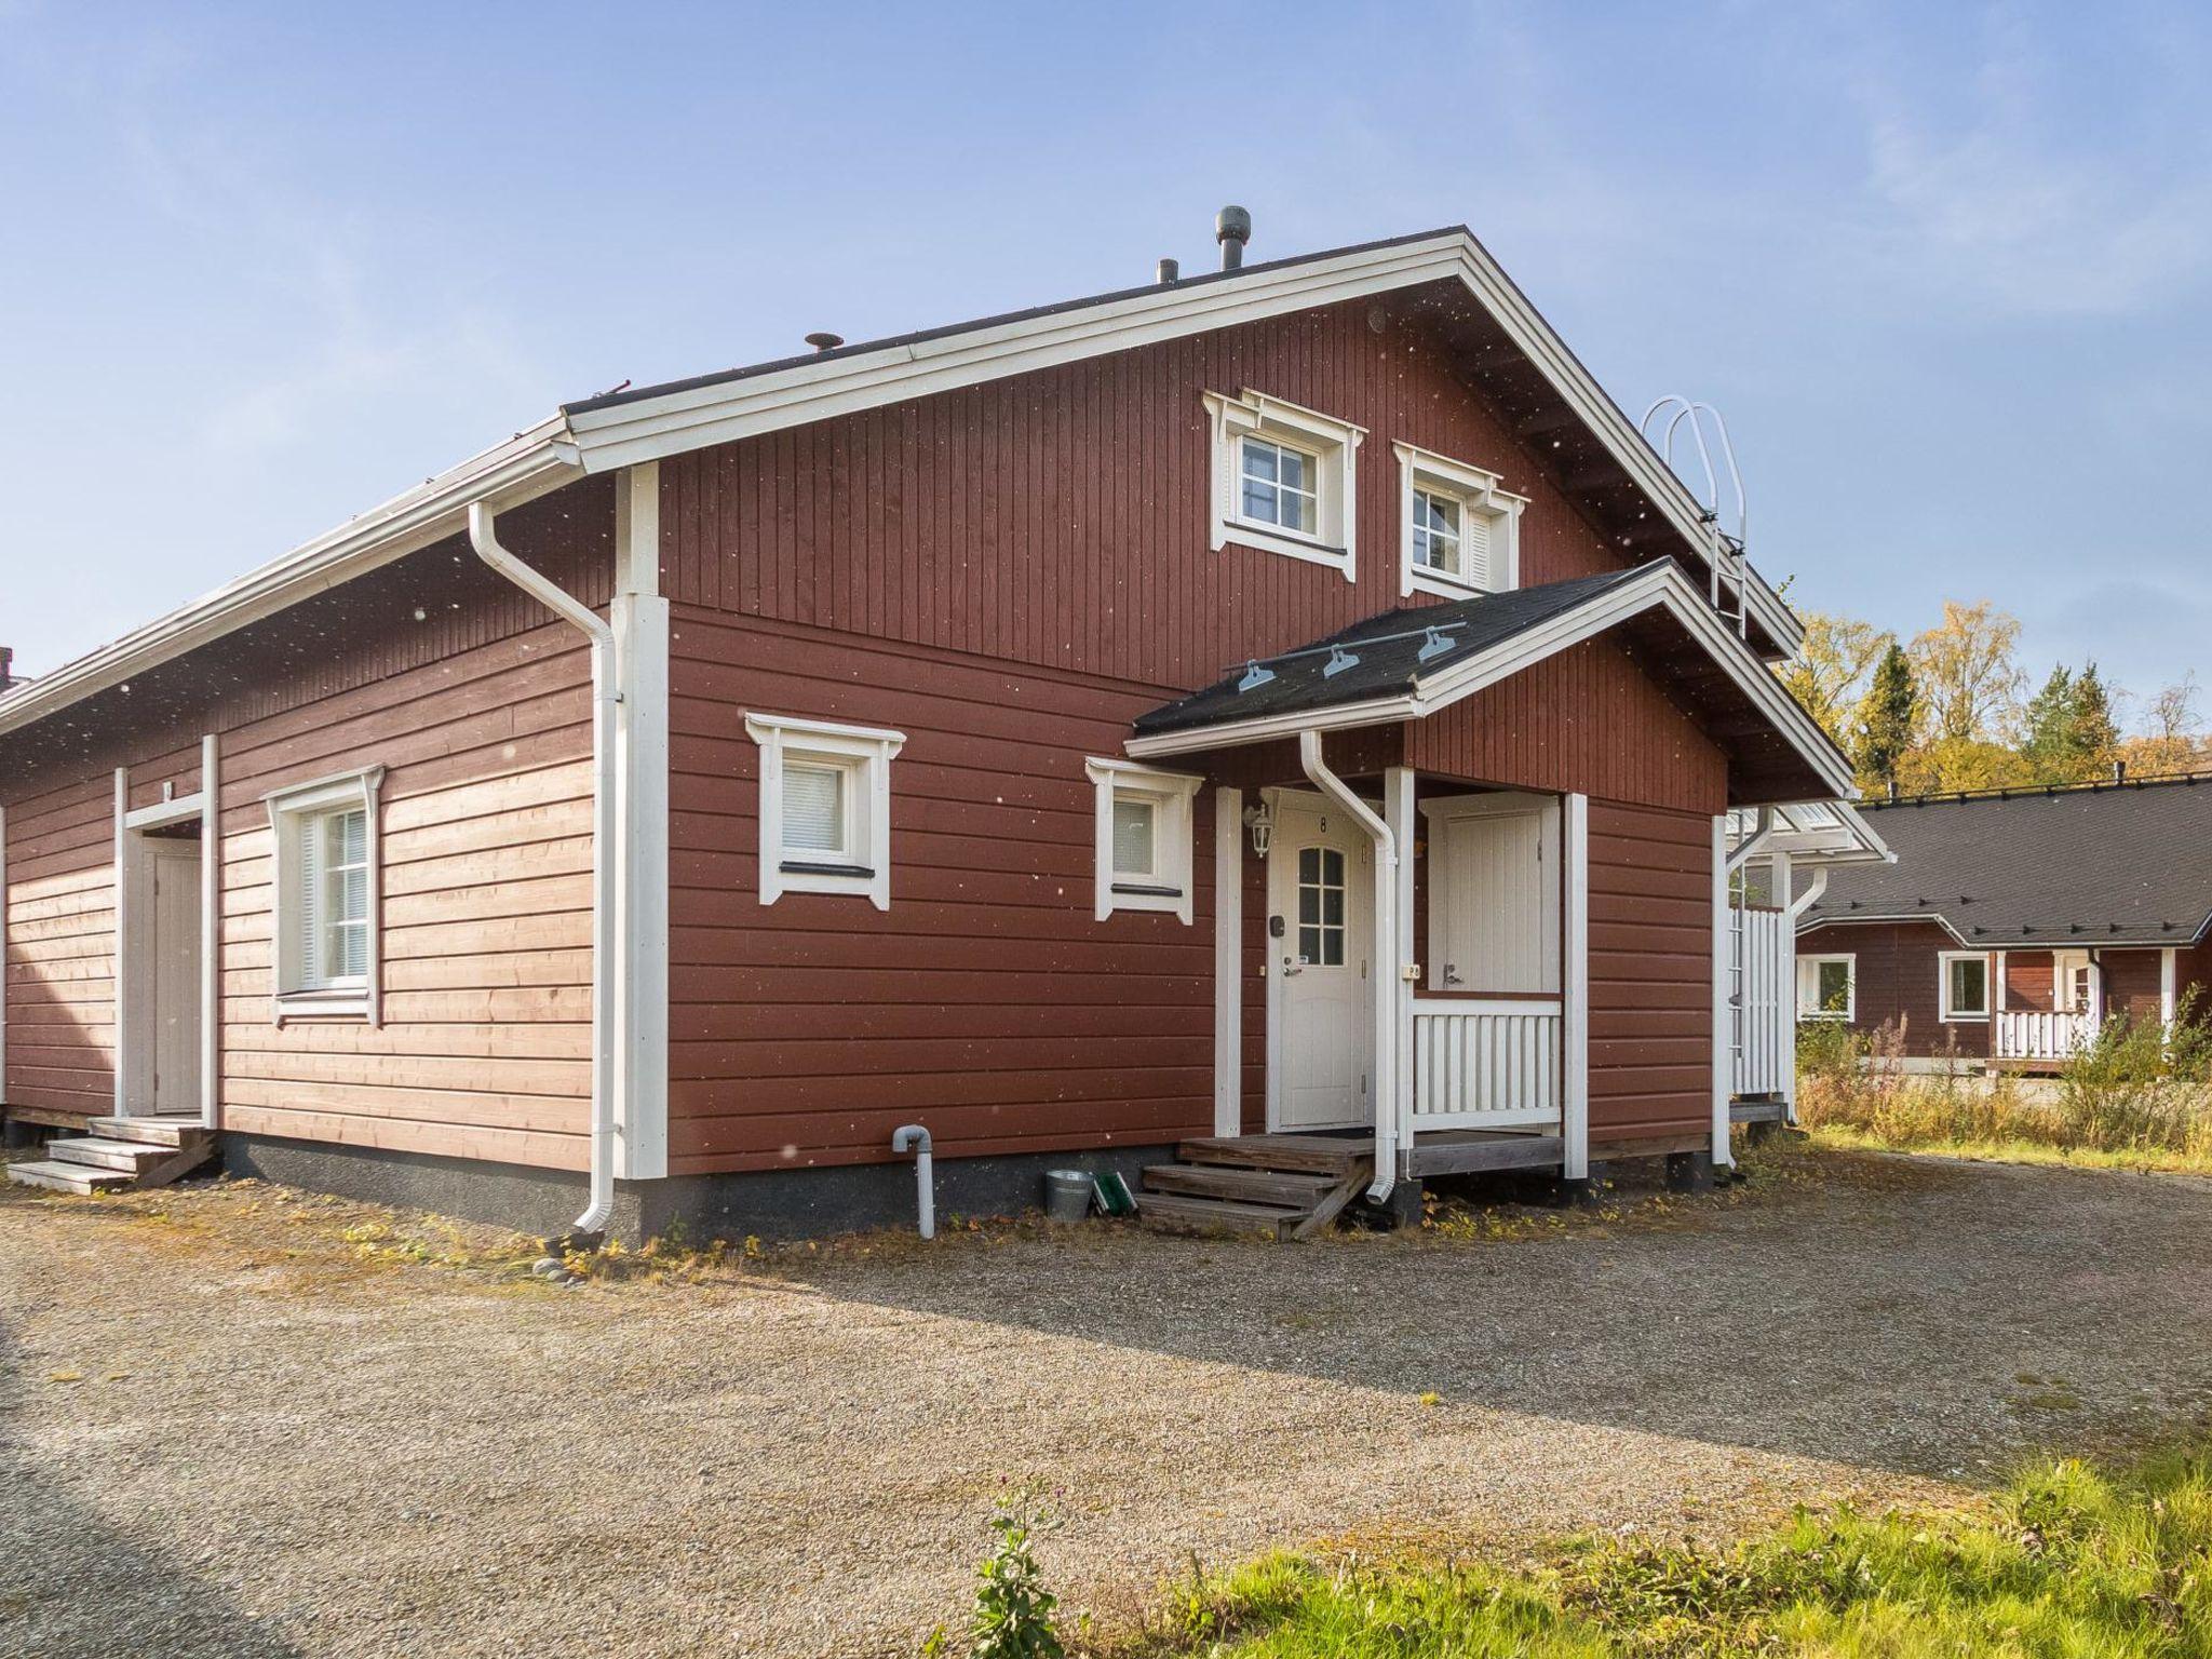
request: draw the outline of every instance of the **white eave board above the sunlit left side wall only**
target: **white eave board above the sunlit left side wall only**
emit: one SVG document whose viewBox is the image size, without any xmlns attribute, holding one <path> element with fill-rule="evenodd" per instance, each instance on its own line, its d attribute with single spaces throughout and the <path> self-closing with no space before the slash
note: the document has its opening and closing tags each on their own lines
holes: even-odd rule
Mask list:
<svg viewBox="0 0 2212 1659">
<path fill-rule="evenodd" d="M 460 467 L 372 507 L 281 560 L 170 611 L 51 675 L 0 695 L 0 732 L 13 732 L 285 606 L 407 557 L 467 526 L 469 502 L 502 511 L 575 482 L 584 471 L 560 418 L 515 434 Z"/>
</svg>

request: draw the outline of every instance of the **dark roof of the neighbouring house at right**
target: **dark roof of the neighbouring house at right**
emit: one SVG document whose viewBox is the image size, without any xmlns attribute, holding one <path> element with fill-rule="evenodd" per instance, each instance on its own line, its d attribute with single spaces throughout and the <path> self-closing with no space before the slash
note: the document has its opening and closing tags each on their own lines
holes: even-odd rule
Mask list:
<svg viewBox="0 0 2212 1659">
<path fill-rule="evenodd" d="M 1933 920 L 1971 949 L 2192 945 L 2212 922 L 2212 776 L 1860 803 L 1893 865 L 1836 869 L 1798 931 Z"/>
</svg>

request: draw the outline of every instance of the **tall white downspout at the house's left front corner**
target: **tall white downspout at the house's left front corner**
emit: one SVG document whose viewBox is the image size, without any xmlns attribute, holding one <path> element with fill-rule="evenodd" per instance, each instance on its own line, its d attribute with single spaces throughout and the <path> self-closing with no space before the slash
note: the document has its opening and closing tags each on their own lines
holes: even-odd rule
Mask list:
<svg viewBox="0 0 2212 1659">
<path fill-rule="evenodd" d="M 476 557 L 591 639 L 591 1203 L 575 1219 L 575 1232 L 597 1237 L 615 1217 L 615 991 L 622 931 L 613 876 L 622 854 L 622 812 L 615 799 L 622 664 L 613 626 L 500 546 L 493 520 L 491 502 L 469 502 L 469 546 Z"/>
</svg>

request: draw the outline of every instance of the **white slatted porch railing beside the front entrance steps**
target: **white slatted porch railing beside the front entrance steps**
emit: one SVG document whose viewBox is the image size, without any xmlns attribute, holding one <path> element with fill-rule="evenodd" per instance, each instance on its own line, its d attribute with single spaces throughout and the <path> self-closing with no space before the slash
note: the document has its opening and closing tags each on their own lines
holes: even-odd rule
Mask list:
<svg viewBox="0 0 2212 1659">
<path fill-rule="evenodd" d="M 1413 1130 L 1559 1124 L 1559 1004 L 1413 998 Z"/>
</svg>

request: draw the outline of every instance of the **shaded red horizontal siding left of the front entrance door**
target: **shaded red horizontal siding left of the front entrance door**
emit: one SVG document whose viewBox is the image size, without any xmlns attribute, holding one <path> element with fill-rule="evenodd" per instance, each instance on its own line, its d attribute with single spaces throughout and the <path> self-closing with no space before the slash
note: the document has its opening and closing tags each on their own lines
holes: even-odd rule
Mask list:
<svg viewBox="0 0 2212 1659">
<path fill-rule="evenodd" d="M 1084 759 L 1117 754 L 1152 701 L 1102 679 L 679 608 L 670 1172 L 885 1157 L 920 1113 L 953 1155 L 1208 1133 L 1210 792 L 1197 801 L 1194 925 L 1093 920 Z M 748 710 L 905 732 L 889 911 L 843 894 L 761 905 Z M 1263 909 L 1256 887 L 1248 905 Z M 1254 920 L 1248 938 L 1256 964 Z M 1248 1013 L 1254 1071 L 1263 1031 Z"/>
</svg>

